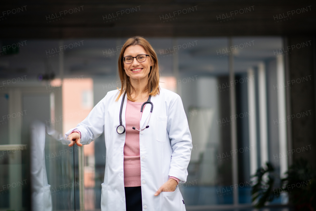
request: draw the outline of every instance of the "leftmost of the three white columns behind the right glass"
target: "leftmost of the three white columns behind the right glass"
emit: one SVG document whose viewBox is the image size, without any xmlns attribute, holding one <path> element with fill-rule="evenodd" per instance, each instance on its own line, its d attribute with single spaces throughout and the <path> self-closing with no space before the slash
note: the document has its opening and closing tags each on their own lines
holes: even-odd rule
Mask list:
<svg viewBox="0 0 316 211">
<path fill-rule="evenodd" d="M 249 108 L 249 145 L 250 145 L 250 175 L 254 175 L 258 168 L 257 164 L 257 118 L 256 118 L 256 87 L 254 71 L 249 68 L 247 78 L 250 80 L 248 86 L 248 108 Z"/>
</svg>

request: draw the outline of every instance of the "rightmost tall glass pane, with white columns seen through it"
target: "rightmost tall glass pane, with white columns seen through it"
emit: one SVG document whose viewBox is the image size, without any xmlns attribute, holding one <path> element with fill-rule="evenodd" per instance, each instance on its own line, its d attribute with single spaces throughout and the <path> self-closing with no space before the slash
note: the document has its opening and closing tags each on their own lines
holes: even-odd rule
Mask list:
<svg viewBox="0 0 316 211">
<path fill-rule="evenodd" d="M 270 161 L 279 185 L 280 167 L 272 154 L 279 152 L 280 128 L 276 90 L 275 49 L 282 49 L 279 37 L 242 37 L 233 39 L 236 81 L 236 123 L 238 139 L 239 203 L 251 203 L 251 177 Z M 284 69 L 283 69 L 284 74 Z M 285 107 L 279 108 L 285 111 Z M 275 121 L 275 123 L 273 122 Z M 234 184 L 232 184 L 234 185 Z M 276 201 L 279 201 L 277 199 Z"/>
</svg>

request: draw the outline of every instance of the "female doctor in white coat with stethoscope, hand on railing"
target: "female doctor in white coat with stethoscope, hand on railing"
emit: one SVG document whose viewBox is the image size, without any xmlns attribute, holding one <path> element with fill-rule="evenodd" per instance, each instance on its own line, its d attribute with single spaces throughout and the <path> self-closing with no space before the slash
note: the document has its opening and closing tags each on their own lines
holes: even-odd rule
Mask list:
<svg viewBox="0 0 316 211">
<path fill-rule="evenodd" d="M 159 87 L 158 58 L 141 36 L 119 55 L 121 89 L 110 91 L 65 137 L 69 146 L 105 134 L 102 211 L 182 211 L 191 133 L 181 98 Z M 144 104 L 144 105 L 143 105 Z"/>
</svg>

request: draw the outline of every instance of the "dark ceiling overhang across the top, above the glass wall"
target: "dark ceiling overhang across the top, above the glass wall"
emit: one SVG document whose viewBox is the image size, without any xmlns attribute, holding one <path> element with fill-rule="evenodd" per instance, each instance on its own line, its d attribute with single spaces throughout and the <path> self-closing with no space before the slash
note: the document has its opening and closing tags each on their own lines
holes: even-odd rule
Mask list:
<svg viewBox="0 0 316 211">
<path fill-rule="evenodd" d="M 315 1 L 8 1 L 1 10 L 2 39 L 297 35 L 316 30 Z"/>
</svg>

